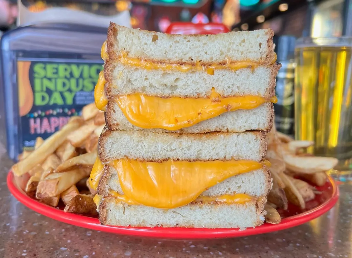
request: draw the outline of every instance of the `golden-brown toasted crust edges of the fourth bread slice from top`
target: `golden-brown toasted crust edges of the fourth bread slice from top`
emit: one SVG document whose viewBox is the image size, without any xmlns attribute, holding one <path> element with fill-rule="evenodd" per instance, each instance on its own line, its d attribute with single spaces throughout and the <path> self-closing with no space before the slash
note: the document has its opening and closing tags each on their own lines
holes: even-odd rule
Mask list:
<svg viewBox="0 0 352 258">
<path fill-rule="evenodd" d="M 134 130 L 120 130 L 120 131 L 125 131 L 128 132 L 130 134 L 134 133 Z M 98 141 L 98 155 L 101 161 L 103 162 L 107 162 L 109 161 L 109 159 L 106 156 L 106 150 L 105 150 L 105 145 L 106 145 L 106 141 L 111 137 L 112 131 L 108 130 L 107 127 L 104 128 L 104 130 L 102 131 L 100 137 L 99 137 L 99 141 Z M 164 133 L 153 133 L 153 134 L 164 134 Z M 202 133 L 202 134 L 182 134 L 182 133 L 167 133 L 168 136 L 172 136 L 174 137 L 174 141 L 177 141 L 178 139 L 183 137 L 188 137 L 187 140 L 189 141 L 197 141 L 197 140 L 204 140 L 204 138 L 206 137 L 207 139 L 211 139 L 213 137 L 217 137 L 219 135 L 222 134 L 228 134 L 226 132 L 209 132 L 209 133 Z M 254 134 L 256 135 L 256 137 L 259 137 L 260 139 L 260 148 L 259 148 L 259 155 L 260 155 L 260 160 L 263 160 L 265 157 L 265 153 L 266 153 L 266 148 L 267 148 L 267 140 L 266 140 L 266 133 L 262 132 L 262 131 L 245 131 L 242 132 L 240 134 Z M 126 158 L 129 158 L 126 156 Z M 231 159 L 231 158 L 230 158 Z M 138 161 L 146 161 L 146 162 L 163 162 L 166 160 L 169 160 L 169 158 L 161 158 L 161 159 L 144 159 L 144 158 L 139 158 L 137 159 Z M 177 158 L 173 158 L 172 160 L 186 160 L 186 161 L 212 161 L 214 159 L 177 159 Z M 229 160 L 229 158 L 225 157 L 222 159 L 216 159 L 216 160 Z"/>
</svg>

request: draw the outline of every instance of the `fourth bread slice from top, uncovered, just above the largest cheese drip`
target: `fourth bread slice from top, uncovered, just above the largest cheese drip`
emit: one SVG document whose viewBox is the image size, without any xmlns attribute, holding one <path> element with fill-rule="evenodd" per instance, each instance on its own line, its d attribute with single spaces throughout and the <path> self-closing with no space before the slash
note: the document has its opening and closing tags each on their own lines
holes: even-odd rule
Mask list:
<svg viewBox="0 0 352 258">
<path fill-rule="evenodd" d="M 173 160 L 254 160 L 262 161 L 266 135 L 244 133 L 151 133 L 136 130 L 105 130 L 98 143 L 101 161 L 121 158 L 145 161 Z"/>
</svg>

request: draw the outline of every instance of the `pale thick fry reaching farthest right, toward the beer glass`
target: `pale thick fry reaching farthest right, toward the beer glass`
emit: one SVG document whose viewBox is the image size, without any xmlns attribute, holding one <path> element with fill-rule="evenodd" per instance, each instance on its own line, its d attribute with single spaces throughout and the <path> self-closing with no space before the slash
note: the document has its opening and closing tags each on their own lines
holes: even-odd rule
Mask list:
<svg viewBox="0 0 352 258">
<path fill-rule="evenodd" d="M 338 159 L 331 157 L 295 156 L 289 153 L 283 155 L 286 168 L 295 173 L 314 174 L 334 168 Z"/>
</svg>

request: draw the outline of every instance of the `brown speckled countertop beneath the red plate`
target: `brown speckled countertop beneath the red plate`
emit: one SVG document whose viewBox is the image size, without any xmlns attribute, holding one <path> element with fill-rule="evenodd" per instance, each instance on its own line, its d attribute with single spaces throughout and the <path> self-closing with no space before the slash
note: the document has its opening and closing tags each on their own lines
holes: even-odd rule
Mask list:
<svg viewBox="0 0 352 258">
<path fill-rule="evenodd" d="M 236 257 L 352 258 L 352 184 L 327 214 L 304 225 L 263 235 L 215 240 L 131 238 L 71 226 L 19 203 L 6 186 L 13 162 L 0 116 L 0 258 L 4 257 Z"/>
</svg>

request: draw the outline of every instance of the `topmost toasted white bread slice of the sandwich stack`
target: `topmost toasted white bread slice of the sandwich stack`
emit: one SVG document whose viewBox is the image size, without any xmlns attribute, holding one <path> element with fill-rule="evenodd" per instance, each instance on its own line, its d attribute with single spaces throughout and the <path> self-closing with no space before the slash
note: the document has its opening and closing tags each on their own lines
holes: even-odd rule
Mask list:
<svg viewBox="0 0 352 258">
<path fill-rule="evenodd" d="M 274 57 L 271 29 L 228 32 L 217 35 L 171 35 L 130 29 L 110 23 L 108 54 L 121 51 L 130 57 L 164 62 L 252 61 L 268 63 Z"/>
</svg>

